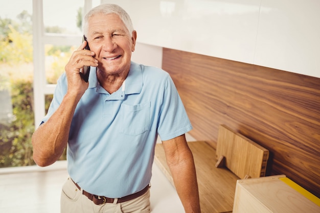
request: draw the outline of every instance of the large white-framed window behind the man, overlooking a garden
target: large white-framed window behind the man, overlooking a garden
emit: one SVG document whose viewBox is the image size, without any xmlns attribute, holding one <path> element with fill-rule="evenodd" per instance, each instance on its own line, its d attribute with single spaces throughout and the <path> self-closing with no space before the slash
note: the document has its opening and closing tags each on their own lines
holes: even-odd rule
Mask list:
<svg viewBox="0 0 320 213">
<path fill-rule="evenodd" d="M 98 4 L 12 0 L 0 7 L 0 168 L 34 164 L 31 136 L 82 41 L 82 14 Z"/>
</svg>

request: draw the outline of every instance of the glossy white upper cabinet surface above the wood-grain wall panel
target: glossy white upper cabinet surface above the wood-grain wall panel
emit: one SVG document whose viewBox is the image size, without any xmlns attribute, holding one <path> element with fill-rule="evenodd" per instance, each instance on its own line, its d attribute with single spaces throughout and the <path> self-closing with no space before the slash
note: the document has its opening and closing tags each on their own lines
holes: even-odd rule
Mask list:
<svg viewBox="0 0 320 213">
<path fill-rule="evenodd" d="M 319 0 L 102 0 L 138 42 L 320 78 Z"/>
</svg>

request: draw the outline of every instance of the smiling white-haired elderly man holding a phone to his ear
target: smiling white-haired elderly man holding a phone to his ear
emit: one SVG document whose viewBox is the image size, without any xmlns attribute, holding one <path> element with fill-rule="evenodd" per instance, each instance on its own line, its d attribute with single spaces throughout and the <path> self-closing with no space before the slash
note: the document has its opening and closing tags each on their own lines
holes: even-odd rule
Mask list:
<svg viewBox="0 0 320 213">
<path fill-rule="evenodd" d="M 131 62 L 136 32 L 117 5 L 90 10 L 84 35 L 32 137 L 33 158 L 41 167 L 67 147 L 70 178 L 62 187 L 61 212 L 150 212 L 158 135 L 185 211 L 200 212 L 185 138 L 192 127 L 170 76 Z M 87 66 L 89 77 L 83 80 Z"/>
</svg>

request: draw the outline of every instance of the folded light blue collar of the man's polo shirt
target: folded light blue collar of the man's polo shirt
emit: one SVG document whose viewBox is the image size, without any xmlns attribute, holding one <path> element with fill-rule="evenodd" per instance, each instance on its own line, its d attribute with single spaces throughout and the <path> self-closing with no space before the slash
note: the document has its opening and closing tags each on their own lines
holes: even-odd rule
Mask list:
<svg viewBox="0 0 320 213">
<path fill-rule="evenodd" d="M 99 85 L 97 78 L 97 67 L 90 67 L 88 88 L 97 88 Z M 131 61 L 130 70 L 126 78 L 125 94 L 136 94 L 142 90 L 142 70 L 141 66 Z"/>
</svg>

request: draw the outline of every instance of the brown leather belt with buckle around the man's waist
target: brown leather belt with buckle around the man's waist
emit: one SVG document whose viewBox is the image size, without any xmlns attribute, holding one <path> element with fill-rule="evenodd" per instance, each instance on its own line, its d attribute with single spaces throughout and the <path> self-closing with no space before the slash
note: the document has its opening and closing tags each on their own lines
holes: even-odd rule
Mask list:
<svg viewBox="0 0 320 213">
<path fill-rule="evenodd" d="M 75 181 L 73 181 L 73 179 L 71 179 L 71 180 L 79 188 L 79 190 L 81 190 L 80 186 Z M 129 201 L 129 200 L 132 200 L 134 198 L 138 198 L 138 197 L 142 196 L 143 194 L 145 194 L 149 190 L 149 187 L 150 186 L 147 185 L 143 190 L 141 190 L 139 192 L 136 192 L 131 195 L 127 195 L 122 198 L 118 198 L 117 203 L 123 203 L 123 202 Z M 96 205 L 100 205 L 103 203 L 113 203 L 115 201 L 115 198 L 107 198 L 104 196 L 93 195 L 93 194 L 90 194 L 84 190 L 82 190 L 82 194 L 85 195 L 88 199 L 92 200 Z"/>
</svg>

